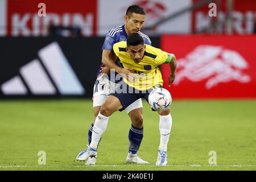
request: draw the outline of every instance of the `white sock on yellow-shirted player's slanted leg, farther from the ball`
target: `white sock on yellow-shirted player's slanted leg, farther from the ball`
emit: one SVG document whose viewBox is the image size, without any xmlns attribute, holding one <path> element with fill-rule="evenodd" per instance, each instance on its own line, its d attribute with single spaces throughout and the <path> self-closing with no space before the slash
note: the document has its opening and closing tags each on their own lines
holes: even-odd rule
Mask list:
<svg viewBox="0 0 256 182">
<path fill-rule="evenodd" d="M 106 127 L 108 126 L 109 117 L 98 113 L 98 116 L 94 122 L 93 131 L 92 131 L 92 142 L 90 142 L 90 147 L 95 150 L 98 147 L 98 143 L 101 140 L 102 135 L 106 131 Z"/>
</svg>

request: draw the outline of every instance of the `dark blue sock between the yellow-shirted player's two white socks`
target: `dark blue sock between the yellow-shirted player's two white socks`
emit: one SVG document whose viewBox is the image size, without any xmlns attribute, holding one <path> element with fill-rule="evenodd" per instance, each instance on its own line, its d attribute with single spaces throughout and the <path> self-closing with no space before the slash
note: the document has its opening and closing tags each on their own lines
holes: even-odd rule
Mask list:
<svg viewBox="0 0 256 182">
<path fill-rule="evenodd" d="M 139 146 L 141 146 L 141 141 L 143 138 L 143 127 L 142 129 L 138 129 L 137 127 L 134 127 L 131 125 L 130 131 L 129 131 L 129 153 L 131 154 L 137 154 L 137 151 L 139 150 Z"/>
</svg>

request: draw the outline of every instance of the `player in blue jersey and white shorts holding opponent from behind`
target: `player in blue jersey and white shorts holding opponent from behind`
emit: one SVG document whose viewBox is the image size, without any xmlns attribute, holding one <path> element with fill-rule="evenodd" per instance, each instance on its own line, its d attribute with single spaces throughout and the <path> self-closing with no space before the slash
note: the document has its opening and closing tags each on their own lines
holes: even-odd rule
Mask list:
<svg viewBox="0 0 256 182">
<path fill-rule="evenodd" d="M 147 35 L 140 32 L 141 28 L 143 27 L 144 20 L 146 18 L 146 13 L 141 6 L 132 5 L 128 7 L 126 11 L 125 25 L 118 26 L 113 28 L 108 32 L 105 38 L 105 42 L 102 46 L 102 61 L 109 60 L 112 61 L 113 55 L 113 45 L 117 42 L 126 41 L 127 36 L 138 32 L 139 35 L 142 36 L 144 43 L 151 45 L 151 40 L 148 38 Z M 122 67 L 119 61 L 115 61 L 119 67 Z M 90 144 L 92 140 L 92 132 L 93 132 L 93 125 L 95 119 L 100 111 L 101 106 L 106 101 L 106 98 L 110 94 L 110 90 L 114 90 L 115 84 L 109 80 L 109 76 L 106 74 L 100 73 L 109 73 L 109 68 L 104 67 L 101 65 L 99 71 L 97 73 L 97 80 L 94 85 L 94 94 L 93 94 L 93 112 L 94 112 L 94 121 L 92 126 L 90 126 L 88 132 L 88 142 Z M 123 74 L 128 74 L 128 69 L 122 69 Z M 113 81 L 113 80 L 112 80 Z M 119 82 L 120 80 L 117 80 Z M 142 160 L 137 155 L 137 151 L 139 150 L 139 146 L 141 145 L 142 138 L 143 138 L 143 117 L 142 117 L 142 100 L 141 98 L 137 101 L 133 102 L 133 104 L 126 107 L 126 113 L 129 115 L 131 119 L 131 127 L 129 131 L 129 152 L 126 158 L 127 163 L 140 163 L 140 164 L 147 164 L 148 162 Z M 76 159 L 84 161 L 84 154 L 87 149 L 81 151 L 79 155 L 77 155 Z M 95 164 L 97 160 L 97 156 L 92 156 L 88 159 L 86 164 Z"/>
</svg>

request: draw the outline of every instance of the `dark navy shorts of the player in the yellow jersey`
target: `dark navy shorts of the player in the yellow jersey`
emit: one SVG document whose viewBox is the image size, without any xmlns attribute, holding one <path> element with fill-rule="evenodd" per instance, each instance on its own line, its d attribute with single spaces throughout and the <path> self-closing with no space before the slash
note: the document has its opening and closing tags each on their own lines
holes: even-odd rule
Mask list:
<svg viewBox="0 0 256 182">
<path fill-rule="evenodd" d="M 118 98 L 118 100 L 121 102 L 121 105 L 123 106 L 123 108 L 119 111 L 122 111 L 126 109 L 126 107 L 128 107 L 129 105 L 133 104 L 133 102 L 137 101 L 139 98 L 145 98 L 148 102 L 148 96 L 150 92 L 157 87 L 162 87 L 162 85 L 156 85 L 151 89 L 141 91 L 123 82 L 123 84 L 121 84 L 119 88 L 116 88 L 115 92 L 111 93 L 110 96 Z"/>
</svg>

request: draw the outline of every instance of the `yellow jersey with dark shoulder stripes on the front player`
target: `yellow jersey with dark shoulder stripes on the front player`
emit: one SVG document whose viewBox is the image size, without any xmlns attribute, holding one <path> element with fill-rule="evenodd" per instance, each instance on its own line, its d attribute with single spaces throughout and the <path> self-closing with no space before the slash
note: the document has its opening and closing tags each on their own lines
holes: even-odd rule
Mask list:
<svg viewBox="0 0 256 182">
<path fill-rule="evenodd" d="M 113 46 L 115 55 L 123 64 L 124 68 L 133 68 L 129 78 L 124 78 L 127 85 L 137 90 L 147 90 L 155 85 L 163 85 L 162 74 L 158 65 L 170 63 L 170 53 L 161 49 L 146 45 L 146 51 L 140 63 L 135 63 L 126 52 L 126 42 L 118 42 Z"/>
</svg>

